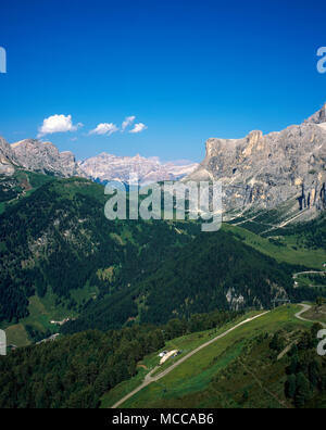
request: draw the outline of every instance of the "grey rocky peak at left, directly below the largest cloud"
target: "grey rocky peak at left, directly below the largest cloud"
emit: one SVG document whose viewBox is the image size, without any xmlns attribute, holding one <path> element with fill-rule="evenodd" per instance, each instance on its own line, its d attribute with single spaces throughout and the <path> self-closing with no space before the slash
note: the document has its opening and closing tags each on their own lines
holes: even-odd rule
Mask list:
<svg viewBox="0 0 326 430">
<path fill-rule="evenodd" d="M 26 139 L 13 143 L 12 150 L 20 166 L 27 170 L 57 176 L 85 176 L 72 152 L 60 153 L 51 142 Z"/>
</svg>

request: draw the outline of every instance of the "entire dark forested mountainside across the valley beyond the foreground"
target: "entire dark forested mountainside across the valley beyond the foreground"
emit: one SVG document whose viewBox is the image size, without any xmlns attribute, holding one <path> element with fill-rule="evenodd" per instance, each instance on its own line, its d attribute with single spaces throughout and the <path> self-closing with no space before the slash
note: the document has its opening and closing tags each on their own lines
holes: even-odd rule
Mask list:
<svg viewBox="0 0 326 430">
<path fill-rule="evenodd" d="M 52 306 L 66 309 L 63 317 L 78 317 L 64 333 L 321 295 L 308 287 L 293 289 L 292 275 L 304 269 L 304 260 L 300 266 L 276 262 L 262 253 L 264 244 L 255 246 L 258 236 L 249 246 L 231 226 L 201 233 L 190 222 L 110 222 L 102 186 L 16 175 L 27 188 L 0 215 L 0 322 L 26 318 L 30 298 L 37 302 L 49 294 Z M 322 246 L 324 227 L 325 218 L 313 222 L 309 243 L 298 240 Z M 287 231 L 306 237 L 300 226 Z M 277 250 L 279 239 L 268 243 Z M 40 326 L 24 322 L 30 340 L 48 332 L 50 318 L 42 318 Z"/>
</svg>

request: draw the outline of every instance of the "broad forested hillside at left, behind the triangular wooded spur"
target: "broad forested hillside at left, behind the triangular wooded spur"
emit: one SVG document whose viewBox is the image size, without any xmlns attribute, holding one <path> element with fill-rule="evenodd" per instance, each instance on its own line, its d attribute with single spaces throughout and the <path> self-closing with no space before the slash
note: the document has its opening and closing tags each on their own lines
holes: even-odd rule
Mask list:
<svg viewBox="0 0 326 430">
<path fill-rule="evenodd" d="M 109 222 L 103 187 L 55 180 L 0 215 L 0 321 L 27 315 L 28 298 L 51 290 L 74 307 L 87 283 L 104 296 L 158 267 L 199 231 L 195 224 Z"/>
</svg>

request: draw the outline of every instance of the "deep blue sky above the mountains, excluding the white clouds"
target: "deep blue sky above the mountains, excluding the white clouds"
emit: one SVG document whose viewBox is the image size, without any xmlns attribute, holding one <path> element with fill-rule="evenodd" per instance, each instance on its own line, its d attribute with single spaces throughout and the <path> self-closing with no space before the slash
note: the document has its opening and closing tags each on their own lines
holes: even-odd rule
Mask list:
<svg viewBox="0 0 326 430">
<path fill-rule="evenodd" d="M 321 108 L 325 20 L 321 0 L 2 0 L 0 136 L 35 138 L 71 115 L 73 131 L 42 139 L 78 159 L 201 161 L 210 137 L 278 130 Z M 118 130 L 90 135 L 99 124 Z"/>
</svg>

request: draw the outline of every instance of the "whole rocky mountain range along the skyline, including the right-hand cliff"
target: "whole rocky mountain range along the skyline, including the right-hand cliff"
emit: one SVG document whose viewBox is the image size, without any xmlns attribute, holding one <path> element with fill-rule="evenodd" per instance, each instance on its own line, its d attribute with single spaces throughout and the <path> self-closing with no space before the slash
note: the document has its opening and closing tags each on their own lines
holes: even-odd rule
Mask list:
<svg viewBox="0 0 326 430">
<path fill-rule="evenodd" d="M 161 163 L 158 157 L 101 153 L 77 162 L 51 142 L 26 139 L 9 144 L 0 138 L 0 174 L 17 168 L 63 178 L 78 176 L 106 182 L 221 180 L 225 219 L 251 218 L 283 206 L 286 223 L 316 217 L 326 207 L 326 103 L 301 125 L 242 139 L 211 138 L 200 164 Z M 187 154 L 185 154 L 187 156 Z"/>
</svg>

